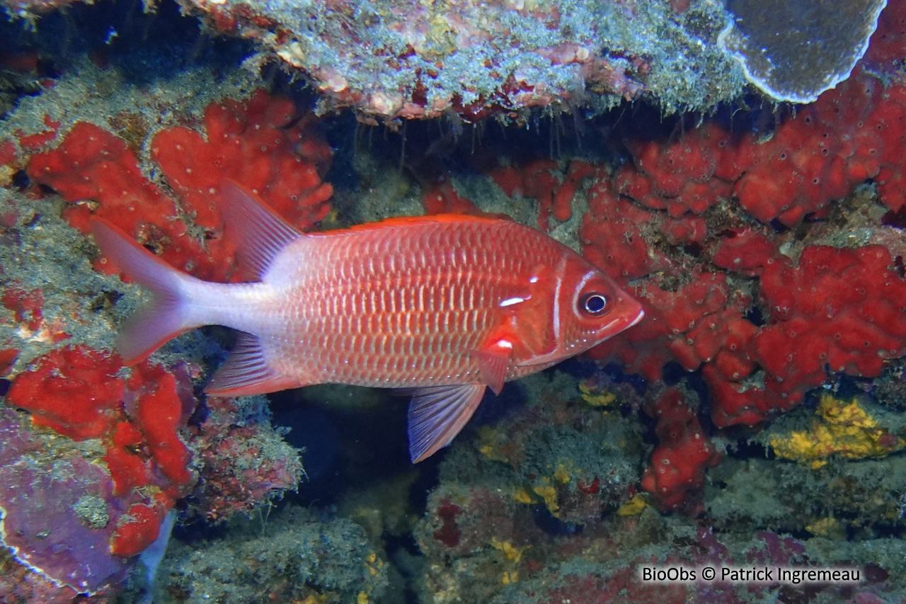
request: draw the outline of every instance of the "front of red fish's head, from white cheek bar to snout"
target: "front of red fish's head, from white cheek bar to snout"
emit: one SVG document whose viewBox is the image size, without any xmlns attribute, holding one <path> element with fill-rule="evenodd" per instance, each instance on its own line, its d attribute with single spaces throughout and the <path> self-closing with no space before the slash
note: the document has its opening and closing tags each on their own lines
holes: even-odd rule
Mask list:
<svg viewBox="0 0 906 604">
<path fill-rule="evenodd" d="M 555 331 L 564 358 L 600 344 L 644 317 L 638 300 L 578 254 L 569 254 L 559 272 Z"/>
</svg>

